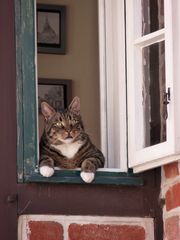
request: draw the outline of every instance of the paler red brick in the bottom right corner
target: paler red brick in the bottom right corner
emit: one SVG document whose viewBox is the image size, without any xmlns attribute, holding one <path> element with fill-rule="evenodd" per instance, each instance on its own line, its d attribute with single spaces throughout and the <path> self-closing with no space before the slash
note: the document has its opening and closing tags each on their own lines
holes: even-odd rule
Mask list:
<svg viewBox="0 0 180 240">
<path fill-rule="evenodd" d="M 166 240 L 179 240 L 179 217 L 174 216 L 165 221 L 165 238 Z"/>
</svg>

